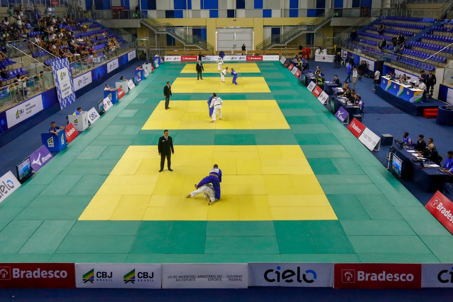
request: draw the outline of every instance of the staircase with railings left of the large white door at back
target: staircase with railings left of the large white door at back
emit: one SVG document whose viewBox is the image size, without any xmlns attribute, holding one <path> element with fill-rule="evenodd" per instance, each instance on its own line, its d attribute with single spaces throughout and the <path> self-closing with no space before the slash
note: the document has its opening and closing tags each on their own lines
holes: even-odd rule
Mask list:
<svg viewBox="0 0 453 302">
<path fill-rule="evenodd" d="M 183 30 L 170 23 L 159 23 L 156 19 L 149 17 L 146 13 L 140 12 L 140 23 L 152 29 L 156 34 L 169 34 L 184 46 L 196 47 L 202 50 L 214 51 L 214 47 L 197 35 L 186 34 Z"/>
</svg>

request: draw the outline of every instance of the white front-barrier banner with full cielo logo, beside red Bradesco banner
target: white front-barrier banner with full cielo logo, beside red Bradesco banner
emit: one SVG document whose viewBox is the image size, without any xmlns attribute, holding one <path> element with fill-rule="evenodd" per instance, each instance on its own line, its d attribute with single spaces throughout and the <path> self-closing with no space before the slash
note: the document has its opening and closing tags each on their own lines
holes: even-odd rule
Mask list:
<svg viewBox="0 0 453 302">
<path fill-rule="evenodd" d="M 333 263 L 249 263 L 249 286 L 333 287 Z"/>
</svg>

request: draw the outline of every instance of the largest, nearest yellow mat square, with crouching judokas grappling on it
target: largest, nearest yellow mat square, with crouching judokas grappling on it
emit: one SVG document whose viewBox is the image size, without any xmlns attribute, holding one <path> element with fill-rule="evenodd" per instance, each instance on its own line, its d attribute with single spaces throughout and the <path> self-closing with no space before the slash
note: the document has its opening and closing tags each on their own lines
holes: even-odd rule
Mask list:
<svg viewBox="0 0 453 302">
<path fill-rule="evenodd" d="M 157 146 L 130 146 L 79 220 L 337 220 L 298 145 L 175 146 L 171 159 L 159 173 Z M 186 198 L 215 163 L 222 201 Z"/>
</svg>

